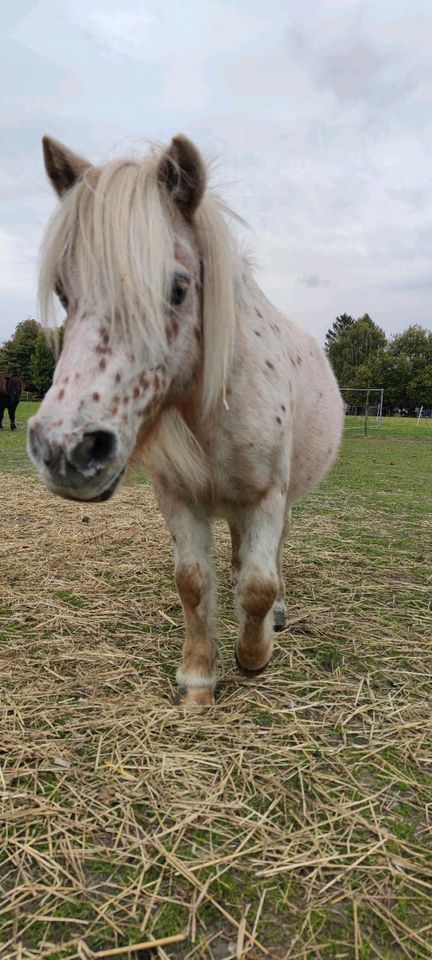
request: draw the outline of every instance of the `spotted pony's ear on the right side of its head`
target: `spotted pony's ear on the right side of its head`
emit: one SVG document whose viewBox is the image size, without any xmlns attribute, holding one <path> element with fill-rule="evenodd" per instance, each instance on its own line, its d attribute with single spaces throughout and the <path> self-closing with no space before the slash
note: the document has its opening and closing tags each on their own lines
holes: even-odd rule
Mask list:
<svg viewBox="0 0 432 960">
<path fill-rule="evenodd" d="M 171 140 L 158 170 L 159 183 L 168 190 L 186 220 L 192 220 L 206 185 L 206 171 L 200 153 L 187 137 Z"/>
</svg>

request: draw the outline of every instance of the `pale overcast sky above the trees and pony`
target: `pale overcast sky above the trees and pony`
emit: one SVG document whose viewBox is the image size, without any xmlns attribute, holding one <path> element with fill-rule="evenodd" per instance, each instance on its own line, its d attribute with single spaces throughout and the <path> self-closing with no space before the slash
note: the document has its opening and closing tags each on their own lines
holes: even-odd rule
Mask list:
<svg viewBox="0 0 432 960">
<path fill-rule="evenodd" d="M 38 317 L 48 133 L 92 162 L 189 136 L 266 295 L 432 329 L 428 0 L 14 0 L 0 13 L 0 342 Z"/>
</svg>

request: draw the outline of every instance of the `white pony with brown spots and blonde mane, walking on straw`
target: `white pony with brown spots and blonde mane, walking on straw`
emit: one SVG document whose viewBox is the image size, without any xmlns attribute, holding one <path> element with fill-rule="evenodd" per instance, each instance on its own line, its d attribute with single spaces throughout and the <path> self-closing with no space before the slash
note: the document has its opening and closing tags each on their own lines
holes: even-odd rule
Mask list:
<svg viewBox="0 0 432 960">
<path fill-rule="evenodd" d="M 285 625 L 282 553 L 292 505 L 339 446 L 343 408 L 328 360 L 254 281 L 183 135 L 143 158 L 92 166 L 44 137 L 60 203 L 42 246 L 44 322 L 66 311 L 53 385 L 28 452 L 62 497 L 108 500 L 144 465 L 171 534 L 186 639 L 178 700 L 214 702 L 218 679 L 211 525 L 231 531 L 247 675 Z"/>
</svg>

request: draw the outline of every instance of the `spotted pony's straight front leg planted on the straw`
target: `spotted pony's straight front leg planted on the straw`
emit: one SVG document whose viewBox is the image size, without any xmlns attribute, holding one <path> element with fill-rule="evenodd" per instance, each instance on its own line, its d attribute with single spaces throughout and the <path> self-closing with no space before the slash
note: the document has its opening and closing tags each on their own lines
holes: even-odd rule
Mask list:
<svg viewBox="0 0 432 960">
<path fill-rule="evenodd" d="M 157 488 L 174 543 L 175 577 L 183 605 L 186 640 L 177 670 L 181 703 L 214 703 L 218 650 L 215 640 L 216 580 L 211 559 L 211 528 L 203 513 Z"/>
</svg>

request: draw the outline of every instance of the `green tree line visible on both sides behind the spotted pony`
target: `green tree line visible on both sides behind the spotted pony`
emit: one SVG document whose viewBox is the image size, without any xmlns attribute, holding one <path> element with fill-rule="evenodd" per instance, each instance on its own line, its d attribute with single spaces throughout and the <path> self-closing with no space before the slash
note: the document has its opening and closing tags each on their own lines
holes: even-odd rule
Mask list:
<svg viewBox="0 0 432 960">
<path fill-rule="evenodd" d="M 18 373 L 26 390 L 43 397 L 52 383 L 64 328 L 47 336 L 37 320 L 22 320 L 0 347 L 0 373 Z M 387 339 L 368 313 L 342 313 L 329 328 L 325 350 L 340 387 L 382 387 L 384 407 L 432 408 L 432 332 L 413 324 Z"/>
</svg>

